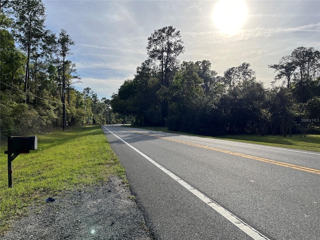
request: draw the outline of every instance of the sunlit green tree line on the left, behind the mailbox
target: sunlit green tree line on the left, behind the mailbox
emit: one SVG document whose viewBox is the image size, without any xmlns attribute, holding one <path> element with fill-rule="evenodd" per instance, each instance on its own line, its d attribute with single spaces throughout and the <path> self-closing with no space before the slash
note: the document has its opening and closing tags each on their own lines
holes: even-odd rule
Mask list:
<svg viewBox="0 0 320 240">
<path fill-rule="evenodd" d="M 45 17 L 41 0 L 0 2 L 1 138 L 125 119 L 109 99 L 74 89 L 81 81 L 68 59 L 74 41 L 64 29 L 46 29 Z"/>
</svg>

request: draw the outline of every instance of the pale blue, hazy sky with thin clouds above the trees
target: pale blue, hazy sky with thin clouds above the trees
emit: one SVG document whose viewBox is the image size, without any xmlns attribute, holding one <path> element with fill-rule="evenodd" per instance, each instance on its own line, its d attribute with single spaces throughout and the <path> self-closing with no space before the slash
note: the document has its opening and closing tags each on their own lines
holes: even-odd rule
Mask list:
<svg viewBox="0 0 320 240">
<path fill-rule="evenodd" d="M 275 76 L 269 64 L 299 46 L 320 50 L 319 0 L 228 1 L 224 12 L 212 0 L 42 0 L 47 29 L 65 29 L 75 42 L 68 59 L 81 83 L 74 87 L 90 87 L 99 99 L 133 79 L 147 59 L 147 38 L 165 26 L 180 31 L 180 62 L 209 60 L 219 76 L 248 62 L 265 87 Z"/>
</svg>

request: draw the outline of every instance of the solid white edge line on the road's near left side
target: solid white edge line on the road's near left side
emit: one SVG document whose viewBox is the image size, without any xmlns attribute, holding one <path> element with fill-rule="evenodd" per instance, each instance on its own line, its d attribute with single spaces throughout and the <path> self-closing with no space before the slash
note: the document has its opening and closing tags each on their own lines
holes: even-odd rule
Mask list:
<svg viewBox="0 0 320 240">
<path fill-rule="evenodd" d="M 177 175 L 175 175 L 173 172 L 169 171 L 168 169 L 166 169 L 164 166 L 162 166 L 161 164 L 159 164 L 158 162 L 156 162 L 155 160 L 153 160 L 151 157 L 147 156 L 146 154 L 144 154 L 142 151 L 140 151 L 139 149 L 135 148 L 134 146 L 132 146 L 131 144 L 127 143 L 125 140 L 123 140 L 122 138 L 120 138 L 119 136 L 115 135 L 112 131 L 110 131 L 108 128 L 106 128 L 105 126 L 103 126 L 107 131 L 109 131 L 111 134 L 113 134 L 115 137 L 117 137 L 119 140 L 121 140 L 122 142 L 124 142 L 126 145 L 128 145 L 129 147 L 131 147 L 133 150 L 135 150 L 137 153 L 139 153 L 141 156 L 143 156 L 145 159 L 147 159 L 148 161 L 150 161 L 152 164 L 154 164 L 155 166 L 157 166 L 159 169 L 161 169 L 163 172 L 165 172 L 167 175 L 169 175 L 171 178 L 173 178 L 174 180 L 176 180 L 181 186 L 183 186 L 184 188 L 186 188 L 188 191 L 190 191 L 191 193 L 193 193 L 196 197 L 198 197 L 200 200 L 202 200 L 205 204 L 207 204 L 208 206 L 210 206 L 213 210 L 215 210 L 216 212 L 218 212 L 221 216 L 223 216 L 224 218 L 226 218 L 228 221 L 230 221 L 233 225 L 235 225 L 236 227 L 238 227 L 240 230 L 242 230 L 243 232 L 245 232 L 247 235 L 249 235 L 250 237 L 252 237 L 254 240 L 270 240 L 269 238 L 267 238 L 266 236 L 264 236 L 262 233 L 258 232 L 257 230 L 255 230 L 253 227 L 249 226 L 247 223 L 245 223 L 244 221 L 242 221 L 240 218 L 236 217 L 235 215 L 233 215 L 231 212 L 229 212 L 228 210 L 226 210 L 225 208 L 223 208 L 222 206 L 220 206 L 219 204 L 215 203 L 213 200 L 211 200 L 209 197 L 205 196 L 203 193 L 201 193 L 200 191 L 198 191 L 197 189 L 195 189 L 193 186 L 191 186 L 190 184 L 188 184 L 187 182 L 185 182 L 184 180 L 182 180 L 181 178 L 179 178 Z"/>
</svg>

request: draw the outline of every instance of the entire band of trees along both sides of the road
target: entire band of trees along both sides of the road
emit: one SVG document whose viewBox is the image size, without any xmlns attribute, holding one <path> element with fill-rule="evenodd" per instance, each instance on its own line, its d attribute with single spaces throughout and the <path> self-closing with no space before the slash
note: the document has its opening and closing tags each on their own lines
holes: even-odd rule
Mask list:
<svg viewBox="0 0 320 240">
<path fill-rule="evenodd" d="M 131 121 L 205 135 L 320 132 L 320 56 L 313 47 L 268 65 L 275 77 L 265 88 L 247 62 L 222 76 L 208 60 L 181 63 L 180 32 L 166 26 L 148 37 L 148 57 L 133 79 L 111 99 L 99 99 L 88 87 L 73 87 L 81 81 L 68 59 L 74 41 L 64 29 L 47 29 L 45 17 L 41 0 L 0 2 L 1 138 Z"/>
</svg>

